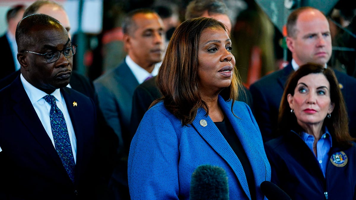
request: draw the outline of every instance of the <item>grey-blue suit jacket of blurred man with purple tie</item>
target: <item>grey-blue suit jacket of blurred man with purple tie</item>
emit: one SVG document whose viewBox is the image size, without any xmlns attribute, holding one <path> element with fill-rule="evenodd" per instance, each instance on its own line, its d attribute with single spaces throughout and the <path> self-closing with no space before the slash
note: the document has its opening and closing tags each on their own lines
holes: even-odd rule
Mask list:
<svg viewBox="0 0 356 200">
<path fill-rule="evenodd" d="M 119 151 L 128 149 L 133 91 L 138 86 L 135 75 L 126 62 L 94 80 L 99 107 L 105 120 L 119 138 Z M 126 148 L 125 148 L 126 147 Z M 128 154 L 128 151 L 125 152 Z"/>
</svg>

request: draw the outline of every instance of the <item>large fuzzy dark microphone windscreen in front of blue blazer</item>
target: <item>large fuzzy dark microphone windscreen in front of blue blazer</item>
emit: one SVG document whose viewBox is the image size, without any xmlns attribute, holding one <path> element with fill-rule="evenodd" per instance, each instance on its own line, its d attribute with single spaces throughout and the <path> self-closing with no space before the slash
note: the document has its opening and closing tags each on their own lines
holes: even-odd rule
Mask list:
<svg viewBox="0 0 356 200">
<path fill-rule="evenodd" d="M 229 183 L 223 168 L 209 164 L 200 165 L 192 174 L 189 199 L 229 199 Z"/>
</svg>

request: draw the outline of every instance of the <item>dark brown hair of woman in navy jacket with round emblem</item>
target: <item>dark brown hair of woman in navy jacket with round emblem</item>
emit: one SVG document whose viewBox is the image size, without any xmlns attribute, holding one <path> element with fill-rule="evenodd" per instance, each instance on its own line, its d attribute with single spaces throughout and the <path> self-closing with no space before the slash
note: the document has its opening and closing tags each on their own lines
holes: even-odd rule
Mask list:
<svg viewBox="0 0 356 200">
<path fill-rule="evenodd" d="M 339 82 L 336 79 L 335 73 L 330 68 L 325 68 L 323 65 L 308 63 L 299 67 L 297 71 L 290 75 L 287 81 L 286 88 L 281 100 L 281 106 L 279 107 L 278 115 L 278 133 L 279 135 L 286 134 L 290 130 L 294 130 L 300 134 L 303 131 L 302 127 L 298 125 L 297 117 L 291 114 L 290 107 L 287 101 L 287 95 L 294 95 L 295 87 L 298 84 L 298 80 L 308 74 L 324 74 L 326 79 L 330 83 L 330 99 L 331 102 L 335 104 L 334 110 L 331 114 L 330 119 L 325 118 L 323 127 L 327 127 L 331 138 L 333 140 L 333 145 L 340 147 L 351 146 L 352 138 L 349 133 L 349 118 L 347 117 L 347 111 L 345 106 L 345 101 L 342 96 Z"/>
</svg>

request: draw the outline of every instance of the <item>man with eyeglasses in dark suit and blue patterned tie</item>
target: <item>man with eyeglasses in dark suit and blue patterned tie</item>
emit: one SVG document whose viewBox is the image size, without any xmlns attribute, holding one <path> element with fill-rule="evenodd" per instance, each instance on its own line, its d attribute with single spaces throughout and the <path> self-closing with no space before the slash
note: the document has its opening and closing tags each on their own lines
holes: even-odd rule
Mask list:
<svg viewBox="0 0 356 200">
<path fill-rule="evenodd" d="M 93 199 L 96 109 L 67 88 L 72 44 L 53 17 L 16 29 L 20 77 L 0 90 L 0 199 Z"/>
</svg>

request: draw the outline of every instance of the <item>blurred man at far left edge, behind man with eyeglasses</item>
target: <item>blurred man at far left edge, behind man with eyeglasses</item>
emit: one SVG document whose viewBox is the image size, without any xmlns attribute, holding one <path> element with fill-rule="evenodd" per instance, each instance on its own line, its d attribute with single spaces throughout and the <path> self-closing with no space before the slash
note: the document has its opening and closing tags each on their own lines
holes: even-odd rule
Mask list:
<svg viewBox="0 0 356 200">
<path fill-rule="evenodd" d="M 17 23 L 22 19 L 25 7 L 17 5 L 12 7 L 6 13 L 7 31 L 0 37 L 0 53 L 1 67 L 0 79 L 20 69 L 20 64 L 17 62 L 17 45 L 15 41 L 15 31 Z"/>
</svg>

